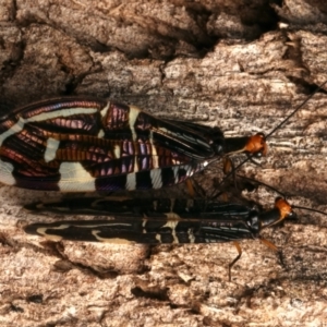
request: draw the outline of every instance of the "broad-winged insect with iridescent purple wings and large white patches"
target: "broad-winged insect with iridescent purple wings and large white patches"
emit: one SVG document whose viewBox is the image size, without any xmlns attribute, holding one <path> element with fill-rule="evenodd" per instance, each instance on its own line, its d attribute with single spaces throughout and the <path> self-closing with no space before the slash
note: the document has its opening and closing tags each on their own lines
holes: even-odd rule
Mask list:
<svg viewBox="0 0 327 327">
<path fill-rule="evenodd" d="M 252 137 L 225 138 L 218 128 L 110 100 L 58 98 L 0 119 L 0 182 L 63 192 L 160 189 L 223 155 L 264 154 L 265 137 Z"/>
</svg>

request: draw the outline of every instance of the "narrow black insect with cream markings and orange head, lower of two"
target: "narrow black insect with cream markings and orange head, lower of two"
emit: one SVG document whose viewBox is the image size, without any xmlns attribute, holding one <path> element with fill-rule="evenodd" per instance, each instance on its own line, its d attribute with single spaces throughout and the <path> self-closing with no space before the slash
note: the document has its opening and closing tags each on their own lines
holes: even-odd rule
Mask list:
<svg viewBox="0 0 327 327">
<path fill-rule="evenodd" d="M 25 232 L 52 241 L 72 240 L 106 243 L 220 243 L 234 242 L 240 259 L 242 250 L 237 241 L 261 239 L 277 251 L 261 231 L 294 216 L 289 203 L 279 197 L 275 207 L 259 213 L 244 205 L 207 202 L 205 199 L 144 199 L 83 197 L 65 198 L 55 203 L 27 206 L 33 211 L 50 210 L 61 214 L 108 215 L 111 220 L 62 220 L 52 223 L 33 223 Z"/>
</svg>

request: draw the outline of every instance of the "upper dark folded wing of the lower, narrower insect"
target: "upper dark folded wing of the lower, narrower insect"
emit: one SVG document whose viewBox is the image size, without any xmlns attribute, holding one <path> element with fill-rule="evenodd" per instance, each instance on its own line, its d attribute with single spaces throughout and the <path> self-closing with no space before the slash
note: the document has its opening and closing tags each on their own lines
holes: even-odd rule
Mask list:
<svg viewBox="0 0 327 327">
<path fill-rule="evenodd" d="M 174 213 L 185 219 L 196 217 L 196 219 L 208 220 L 216 220 L 217 216 L 220 220 L 222 218 L 230 220 L 231 217 L 239 217 L 242 220 L 254 211 L 249 206 L 204 198 L 130 198 L 122 196 L 62 197 L 59 201 L 29 204 L 25 206 L 25 209 L 63 215 L 101 215 L 124 218 L 142 218 L 144 216 L 154 218 L 161 217 L 166 213 Z"/>
</svg>

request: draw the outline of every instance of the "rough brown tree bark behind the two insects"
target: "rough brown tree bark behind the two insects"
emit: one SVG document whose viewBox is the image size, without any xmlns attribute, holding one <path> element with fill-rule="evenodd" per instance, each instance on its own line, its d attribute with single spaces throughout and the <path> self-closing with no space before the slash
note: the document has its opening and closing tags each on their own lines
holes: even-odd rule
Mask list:
<svg viewBox="0 0 327 327">
<path fill-rule="evenodd" d="M 268 134 L 327 78 L 323 0 L 62 3 L 0 0 L 2 112 L 93 95 L 226 135 Z M 323 88 L 269 137 L 261 167 L 241 171 L 327 211 Z M 208 184 L 218 166 L 202 177 Z M 258 241 L 242 242 L 229 282 L 230 244 L 45 242 L 22 223 L 59 217 L 22 205 L 58 194 L 2 186 L 0 195 L 1 326 L 327 326 L 326 216 L 298 210 L 296 222 L 265 232 L 282 263 Z M 275 195 L 247 194 L 265 207 Z"/>
</svg>

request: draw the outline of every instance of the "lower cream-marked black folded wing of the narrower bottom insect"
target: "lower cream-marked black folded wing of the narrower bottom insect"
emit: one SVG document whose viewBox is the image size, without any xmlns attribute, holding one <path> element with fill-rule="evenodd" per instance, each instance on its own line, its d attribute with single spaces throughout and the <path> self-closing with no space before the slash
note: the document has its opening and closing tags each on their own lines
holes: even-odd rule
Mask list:
<svg viewBox="0 0 327 327">
<path fill-rule="evenodd" d="M 33 223 L 25 228 L 27 233 L 49 240 L 71 240 L 106 243 L 219 243 L 253 239 L 244 223 L 221 226 L 218 222 L 197 219 L 136 219 L 68 220 L 53 223 Z"/>
</svg>

